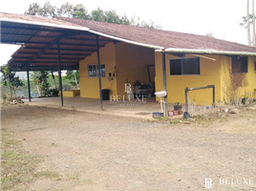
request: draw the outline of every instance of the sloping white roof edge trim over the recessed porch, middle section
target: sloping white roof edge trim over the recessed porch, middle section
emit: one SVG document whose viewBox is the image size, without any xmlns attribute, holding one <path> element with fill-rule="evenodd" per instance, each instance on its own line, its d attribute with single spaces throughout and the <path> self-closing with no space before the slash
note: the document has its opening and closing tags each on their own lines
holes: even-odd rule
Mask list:
<svg viewBox="0 0 256 191">
<path fill-rule="evenodd" d="M 120 37 L 113 36 L 113 35 L 109 35 L 109 34 L 106 34 L 106 33 L 96 32 L 94 30 L 89 30 L 89 32 L 92 32 L 92 33 L 95 33 L 97 35 L 101 35 L 101 36 L 104 36 L 104 37 L 108 37 L 108 38 L 111 38 L 111 39 L 114 39 L 114 40 L 118 40 L 118 41 L 121 41 L 121 42 L 126 42 L 126 43 L 129 43 L 129 44 L 138 45 L 140 47 L 146 47 L 146 48 L 155 49 L 155 50 L 164 49 L 164 47 L 159 47 L 159 46 L 155 46 L 155 45 L 149 45 L 149 44 L 144 44 L 144 43 L 140 43 L 140 42 L 136 42 L 136 41 L 132 41 L 132 40 L 127 40 L 127 39 L 120 38 Z"/>
</svg>

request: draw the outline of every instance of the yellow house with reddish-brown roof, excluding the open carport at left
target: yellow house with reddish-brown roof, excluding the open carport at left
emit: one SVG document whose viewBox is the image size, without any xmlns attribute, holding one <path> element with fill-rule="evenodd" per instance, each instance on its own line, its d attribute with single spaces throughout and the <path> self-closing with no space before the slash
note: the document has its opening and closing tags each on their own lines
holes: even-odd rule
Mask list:
<svg viewBox="0 0 256 191">
<path fill-rule="evenodd" d="M 203 35 L 60 19 L 115 40 L 99 49 L 100 64 L 104 67 L 102 89 L 109 89 L 111 96 L 125 96 L 125 83 L 149 82 L 147 66 L 154 66 L 150 81 L 156 92 L 166 89 L 168 103 L 184 103 L 186 88 L 214 85 L 216 103 L 234 101 L 242 95 L 253 96 L 256 89 L 256 48 Z M 97 75 L 90 76 L 96 63 L 96 53 L 79 62 L 81 97 L 99 98 Z M 188 99 L 210 105 L 212 89 L 189 92 Z"/>
</svg>

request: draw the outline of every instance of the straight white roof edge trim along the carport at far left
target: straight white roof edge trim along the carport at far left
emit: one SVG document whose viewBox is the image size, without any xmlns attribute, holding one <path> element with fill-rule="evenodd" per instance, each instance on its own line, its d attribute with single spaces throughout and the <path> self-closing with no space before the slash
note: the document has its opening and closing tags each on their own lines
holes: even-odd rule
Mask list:
<svg viewBox="0 0 256 191">
<path fill-rule="evenodd" d="M 0 18 L 0 21 L 1 22 L 28 24 L 28 25 L 37 25 L 37 26 L 44 26 L 44 27 L 53 27 L 53 28 L 59 28 L 59 29 L 78 30 L 78 31 L 85 31 L 85 32 L 89 31 L 89 28 L 86 28 L 86 27 L 56 25 L 56 24 L 52 24 L 52 23 L 34 22 L 34 21 L 28 21 L 28 20 L 16 20 L 16 19 L 3 18 L 3 17 Z"/>
</svg>

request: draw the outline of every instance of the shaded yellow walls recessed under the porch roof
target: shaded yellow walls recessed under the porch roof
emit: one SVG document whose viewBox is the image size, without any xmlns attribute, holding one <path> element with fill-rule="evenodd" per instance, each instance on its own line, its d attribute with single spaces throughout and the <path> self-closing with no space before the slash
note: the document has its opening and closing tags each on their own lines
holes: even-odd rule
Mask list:
<svg viewBox="0 0 256 191">
<path fill-rule="evenodd" d="M 100 63 L 105 64 L 106 77 L 101 78 L 102 89 L 110 89 L 110 95 L 125 96 L 124 83 L 148 82 L 147 65 L 154 65 L 154 50 L 119 42 L 108 44 L 99 49 Z M 96 64 L 96 53 L 80 61 L 80 96 L 99 98 L 98 78 L 88 77 L 88 65 Z M 113 81 L 108 81 L 108 74 L 114 73 Z M 155 75 L 155 74 L 154 74 Z"/>
</svg>

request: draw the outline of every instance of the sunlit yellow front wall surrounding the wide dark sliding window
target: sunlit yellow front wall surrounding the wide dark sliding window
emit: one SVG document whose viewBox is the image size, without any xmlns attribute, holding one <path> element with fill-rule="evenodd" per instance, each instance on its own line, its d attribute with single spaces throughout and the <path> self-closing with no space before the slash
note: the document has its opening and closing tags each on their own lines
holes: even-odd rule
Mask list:
<svg viewBox="0 0 256 191">
<path fill-rule="evenodd" d="M 196 88 L 207 85 L 215 85 L 215 100 L 221 100 L 221 60 L 219 55 L 204 55 L 210 58 L 216 59 L 216 61 L 200 58 L 201 74 L 199 75 L 170 75 L 169 60 L 179 58 L 171 54 L 165 54 L 166 58 L 166 82 L 168 92 L 168 102 L 185 102 L 184 89 Z M 197 55 L 189 55 L 186 57 L 197 57 Z M 163 90 L 163 78 L 162 78 L 162 57 L 161 53 L 155 53 L 156 58 L 156 91 Z M 188 98 L 193 101 L 196 100 L 196 104 L 206 103 L 212 104 L 212 89 L 204 89 L 198 91 L 191 91 L 188 93 Z M 157 97 L 157 100 L 159 98 Z"/>
</svg>

